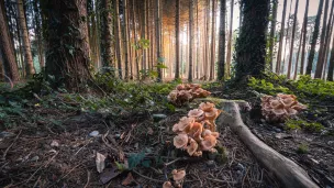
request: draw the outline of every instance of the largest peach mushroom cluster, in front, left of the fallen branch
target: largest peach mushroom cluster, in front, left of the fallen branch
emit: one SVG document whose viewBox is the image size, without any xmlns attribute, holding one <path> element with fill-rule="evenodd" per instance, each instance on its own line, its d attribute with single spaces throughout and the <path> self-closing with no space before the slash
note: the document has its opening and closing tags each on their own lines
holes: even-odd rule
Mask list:
<svg viewBox="0 0 334 188">
<path fill-rule="evenodd" d="M 220 115 L 211 102 L 202 102 L 199 109 L 190 110 L 188 117 L 183 117 L 172 126 L 177 133 L 174 145 L 186 150 L 190 156 L 201 156 L 203 151 L 215 152 L 219 133 L 215 132 L 215 120 Z"/>
</svg>

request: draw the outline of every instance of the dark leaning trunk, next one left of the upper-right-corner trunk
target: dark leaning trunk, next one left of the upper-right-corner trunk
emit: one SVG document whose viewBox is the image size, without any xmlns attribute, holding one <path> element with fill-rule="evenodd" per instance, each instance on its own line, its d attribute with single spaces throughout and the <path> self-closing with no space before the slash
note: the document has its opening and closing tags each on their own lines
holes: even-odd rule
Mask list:
<svg viewBox="0 0 334 188">
<path fill-rule="evenodd" d="M 314 32 L 313 32 L 312 42 L 311 42 L 311 51 L 310 51 L 309 60 L 308 60 L 307 75 L 311 75 L 311 73 L 312 73 L 312 65 L 313 65 L 313 59 L 314 59 L 314 55 L 315 55 L 315 45 L 316 45 L 316 41 L 318 41 L 318 36 L 319 36 L 323 1 L 324 0 L 320 0 L 320 2 L 319 2 L 318 13 L 316 13 L 315 24 L 314 24 Z"/>
</svg>

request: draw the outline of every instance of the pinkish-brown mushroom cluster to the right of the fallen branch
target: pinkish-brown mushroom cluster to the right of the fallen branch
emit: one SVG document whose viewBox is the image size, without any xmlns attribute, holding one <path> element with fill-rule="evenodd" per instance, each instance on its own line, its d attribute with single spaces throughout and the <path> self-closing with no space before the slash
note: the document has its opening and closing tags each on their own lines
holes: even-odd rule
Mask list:
<svg viewBox="0 0 334 188">
<path fill-rule="evenodd" d="M 293 95 L 278 93 L 276 97 L 261 97 L 261 112 L 269 122 L 282 122 L 307 107 L 298 102 Z"/>
</svg>

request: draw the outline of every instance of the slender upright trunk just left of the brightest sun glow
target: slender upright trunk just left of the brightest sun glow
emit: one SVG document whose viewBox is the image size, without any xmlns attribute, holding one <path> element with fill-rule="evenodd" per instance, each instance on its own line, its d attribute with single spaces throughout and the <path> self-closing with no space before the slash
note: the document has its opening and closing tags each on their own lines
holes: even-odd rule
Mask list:
<svg viewBox="0 0 334 188">
<path fill-rule="evenodd" d="M 175 14 L 175 79 L 180 78 L 180 0 L 176 0 Z"/>
</svg>

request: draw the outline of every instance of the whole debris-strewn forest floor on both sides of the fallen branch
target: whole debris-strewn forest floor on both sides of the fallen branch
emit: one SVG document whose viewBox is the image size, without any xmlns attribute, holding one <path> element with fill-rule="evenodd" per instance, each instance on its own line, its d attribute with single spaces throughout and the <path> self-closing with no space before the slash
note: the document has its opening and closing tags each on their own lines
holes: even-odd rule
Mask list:
<svg viewBox="0 0 334 188">
<path fill-rule="evenodd" d="M 212 96 L 244 99 L 254 108 L 246 121 L 266 144 L 303 167 L 321 187 L 334 187 L 333 107 L 316 112 L 325 132 L 289 131 L 258 115 L 258 98 L 248 88 L 210 87 Z M 41 104 L 46 100 L 49 106 Z M 60 108 L 64 104 L 75 108 Z M 194 104 L 174 112 L 82 112 L 64 95 L 29 100 L 15 125 L 0 132 L 0 187 L 160 187 L 172 169 L 187 172 L 187 187 L 280 187 L 230 128 L 219 128 L 226 158 L 185 157 L 172 146 L 171 126 Z M 314 118 L 305 111 L 302 118 Z M 3 123 L 3 122 L 2 122 Z M 1 124 L 1 120 L 0 120 Z M 96 155 L 107 156 L 99 174 Z M 116 163 L 115 163 L 116 162 Z M 123 169 L 124 168 L 124 169 Z M 125 169 L 127 168 L 127 169 Z M 131 168 L 129 170 L 129 168 Z"/>
</svg>

